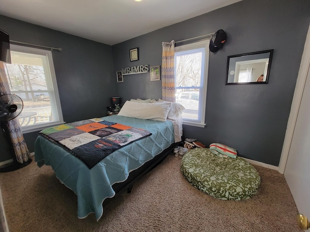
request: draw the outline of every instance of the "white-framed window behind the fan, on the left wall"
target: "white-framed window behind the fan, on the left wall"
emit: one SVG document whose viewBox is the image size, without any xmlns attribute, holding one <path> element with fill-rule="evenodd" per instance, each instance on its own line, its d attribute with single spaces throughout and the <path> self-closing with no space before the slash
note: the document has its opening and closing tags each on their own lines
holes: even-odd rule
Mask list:
<svg viewBox="0 0 310 232">
<path fill-rule="evenodd" d="M 14 44 L 10 47 L 12 64 L 5 64 L 5 72 L 11 93 L 24 103 L 17 117 L 22 131 L 63 123 L 51 51 Z"/>
</svg>

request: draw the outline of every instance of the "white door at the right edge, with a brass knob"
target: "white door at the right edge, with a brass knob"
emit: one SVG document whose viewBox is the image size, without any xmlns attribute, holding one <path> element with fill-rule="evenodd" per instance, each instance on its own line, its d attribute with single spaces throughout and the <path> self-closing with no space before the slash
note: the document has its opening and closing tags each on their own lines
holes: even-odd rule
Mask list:
<svg viewBox="0 0 310 232">
<path fill-rule="evenodd" d="M 302 93 L 284 176 L 299 213 L 310 220 L 310 63 L 307 62 L 303 65 L 308 65 L 308 74 L 306 74 L 307 79 Z"/>
</svg>

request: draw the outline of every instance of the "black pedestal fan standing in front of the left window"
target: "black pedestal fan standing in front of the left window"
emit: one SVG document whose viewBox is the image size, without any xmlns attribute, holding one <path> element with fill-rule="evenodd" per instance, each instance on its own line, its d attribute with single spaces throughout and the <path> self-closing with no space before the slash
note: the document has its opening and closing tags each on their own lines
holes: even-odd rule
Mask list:
<svg viewBox="0 0 310 232">
<path fill-rule="evenodd" d="M 23 109 L 23 101 L 15 94 L 3 94 L 0 96 L 0 127 L 4 133 L 12 153 L 13 163 L 0 168 L 0 173 L 12 172 L 31 163 L 31 159 L 27 162 L 19 163 L 16 159 L 14 147 L 10 138 L 9 120 L 16 118 Z"/>
</svg>

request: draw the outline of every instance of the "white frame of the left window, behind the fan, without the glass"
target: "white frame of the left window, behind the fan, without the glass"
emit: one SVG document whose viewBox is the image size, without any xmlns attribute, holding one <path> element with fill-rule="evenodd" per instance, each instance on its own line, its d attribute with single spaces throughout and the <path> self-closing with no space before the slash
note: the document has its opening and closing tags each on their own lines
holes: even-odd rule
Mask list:
<svg viewBox="0 0 310 232">
<path fill-rule="evenodd" d="M 58 86 L 57 86 L 57 80 L 56 80 L 56 73 L 55 73 L 55 68 L 54 68 L 54 62 L 53 62 L 53 56 L 52 52 L 49 50 L 44 50 L 44 49 L 39 49 L 39 48 L 33 48 L 33 47 L 28 47 L 28 46 L 21 46 L 21 45 L 16 45 L 16 44 L 10 44 L 10 50 L 11 52 L 16 51 L 16 52 L 22 52 L 22 53 L 29 53 L 29 54 L 35 54 L 35 55 L 42 55 L 47 57 L 48 65 L 49 65 L 49 71 L 50 71 L 50 76 L 51 76 L 51 82 L 52 82 L 52 87 L 53 87 L 53 92 L 54 92 L 54 97 L 55 97 L 55 105 L 56 105 L 56 110 L 58 113 L 58 121 L 53 121 L 53 122 L 45 122 L 45 123 L 40 123 L 39 125 L 27 125 L 27 126 L 21 126 L 21 130 L 23 133 L 30 133 L 34 131 L 41 131 L 45 128 L 56 126 L 63 124 L 63 116 L 62 116 L 62 106 L 60 102 L 60 97 L 59 97 L 59 91 L 58 91 Z M 15 93 L 14 91 L 10 90 L 13 94 L 18 95 L 18 93 Z"/>
</svg>

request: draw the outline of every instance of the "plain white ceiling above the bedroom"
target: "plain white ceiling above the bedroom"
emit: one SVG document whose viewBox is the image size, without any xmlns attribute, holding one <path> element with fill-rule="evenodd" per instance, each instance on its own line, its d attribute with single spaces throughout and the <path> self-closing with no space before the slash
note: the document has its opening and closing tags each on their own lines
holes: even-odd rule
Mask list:
<svg viewBox="0 0 310 232">
<path fill-rule="evenodd" d="M 114 45 L 240 0 L 0 0 L 0 14 Z"/>
</svg>

